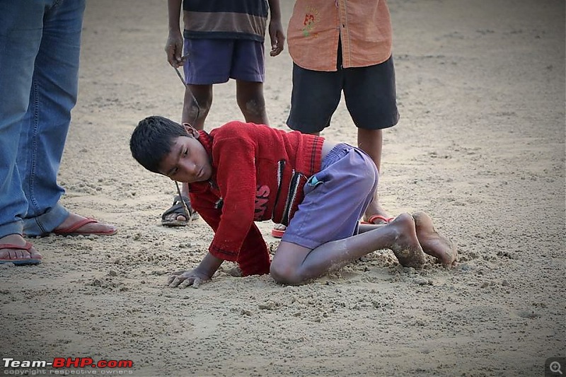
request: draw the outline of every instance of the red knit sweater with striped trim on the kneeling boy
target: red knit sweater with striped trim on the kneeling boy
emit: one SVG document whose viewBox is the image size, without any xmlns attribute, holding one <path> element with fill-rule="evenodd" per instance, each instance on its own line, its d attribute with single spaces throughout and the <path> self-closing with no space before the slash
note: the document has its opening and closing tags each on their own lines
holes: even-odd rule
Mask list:
<svg viewBox="0 0 566 377">
<path fill-rule="evenodd" d="M 306 179 L 320 170 L 323 140 L 237 121 L 200 131 L 213 173 L 189 185 L 190 199 L 214 229 L 212 255 L 237 262 L 244 276 L 269 273 L 270 255 L 254 221 L 289 223 Z"/>
</svg>

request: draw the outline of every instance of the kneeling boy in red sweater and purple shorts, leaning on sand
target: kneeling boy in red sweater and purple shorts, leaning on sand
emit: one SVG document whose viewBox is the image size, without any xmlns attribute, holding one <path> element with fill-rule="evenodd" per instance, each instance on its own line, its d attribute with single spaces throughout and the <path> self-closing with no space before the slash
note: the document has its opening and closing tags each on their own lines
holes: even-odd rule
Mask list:
<svg viewBox="0 0 566 377">
<path fill-rule="evenodd" d="M 381 249 L 408 267 L 422 267 L 423 251 L 444 265 L 456 261 L 453 243 L 422 212 L 359 224 L 378 172 L 353 146 L 236 121 L 207 133 L 151 116 L 134 129 L 130 149 L 144 168 L 187 182 L 193 207 L 214 230 L 200 265 L 171 276 L 170 286 L 197 286 L 224 260 L 244 276 L 270 273 L 282 284 L 303 284 Z M 264 220 L 287 226 L 272 261 L 254 224 Z"/>
</svg>

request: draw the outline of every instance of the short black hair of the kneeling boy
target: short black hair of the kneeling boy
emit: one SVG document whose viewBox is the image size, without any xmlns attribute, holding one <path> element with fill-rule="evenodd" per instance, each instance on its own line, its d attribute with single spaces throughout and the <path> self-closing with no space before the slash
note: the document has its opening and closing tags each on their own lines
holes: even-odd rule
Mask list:
<svg viewBox="0 0 566 377">
<path fill-rule="evenodd" d="M 137 124 L 129 139 L 129 150 L 141 166 L 160 173 L 161 161 L 171 152 L 173 139 L 180 136 L 190 136 L 183 125 L 166 117 L 152 115 Z"/>
</svg>

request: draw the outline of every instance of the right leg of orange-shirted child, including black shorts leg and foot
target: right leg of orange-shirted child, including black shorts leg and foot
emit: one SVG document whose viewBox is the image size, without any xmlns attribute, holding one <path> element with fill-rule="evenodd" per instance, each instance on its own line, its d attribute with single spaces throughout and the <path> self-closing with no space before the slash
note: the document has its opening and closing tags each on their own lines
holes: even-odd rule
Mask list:
<svg viewBox="0 0 566 377">
<path fill-rule="evenodd" d="M 381 64 L 344 69 L 344 72 L 346 106 L 358 128 L 358 146 L 371 156 L 381 171 L 382 130 L 393 127 L 399 120 L 393 57 Z M 369 220 L 372 216 L 382 223 L 388 219 L 379 204 L 377 191 L 365 218 Z"/>
</svg>

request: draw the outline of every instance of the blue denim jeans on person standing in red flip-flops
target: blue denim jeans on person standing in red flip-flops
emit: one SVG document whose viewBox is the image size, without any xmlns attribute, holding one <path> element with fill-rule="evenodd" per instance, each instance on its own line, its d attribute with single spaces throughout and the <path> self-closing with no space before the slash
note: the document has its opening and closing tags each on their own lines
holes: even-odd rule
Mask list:
<svg viewBox="0 0 566 377">
<path fill-rule="evenodd" d="M 85 0 L 0 1 L 0 237 L 69 216 L 57 185 L 76 103 Z"/>
</svg>

